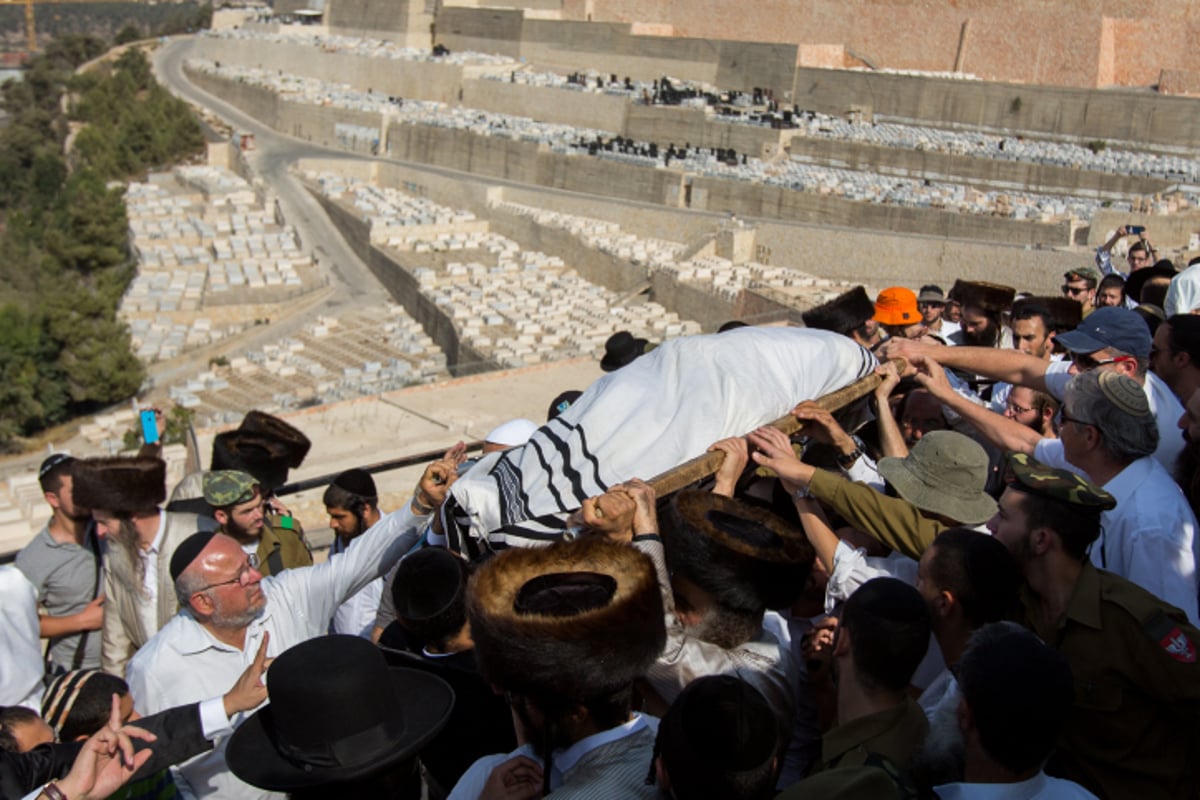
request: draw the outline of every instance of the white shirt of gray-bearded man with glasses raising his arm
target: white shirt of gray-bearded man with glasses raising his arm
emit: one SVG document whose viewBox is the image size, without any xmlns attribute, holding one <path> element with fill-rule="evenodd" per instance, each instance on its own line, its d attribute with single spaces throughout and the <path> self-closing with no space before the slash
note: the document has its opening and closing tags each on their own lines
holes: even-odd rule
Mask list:
<svg viewBox="0 0 1200 800">
<path fill-rule="evenodd" d="M 268 656 L 329 630 L 329 621 L 347 597 L 383 575 L 415 543 L 426 517 L 416 517 L 408 504 L 390 513 L 359 537 L 359 546 L 324 564 L 284 570 L 263 578 L 263 613 L 246 628 L 242 650 L 218 642 L 191 612 L 180 610 L 130 661 L 126 678 L 137 710 L 154 714 L 174 705 L 220 697 L 251 664 L 263 633 L 270 632 Z M 270 681 L 268 680 L 268 684 Z M 202 706 L 202 717 L 203 717 Z M 241 724 L 251 712 L 235 715 Z M 209 753 L 180 765 L 179 771 L 200 798 L 268 798 L 270 793 L 242 783 L 226 766 L 228 736 Z"/>
</svg>

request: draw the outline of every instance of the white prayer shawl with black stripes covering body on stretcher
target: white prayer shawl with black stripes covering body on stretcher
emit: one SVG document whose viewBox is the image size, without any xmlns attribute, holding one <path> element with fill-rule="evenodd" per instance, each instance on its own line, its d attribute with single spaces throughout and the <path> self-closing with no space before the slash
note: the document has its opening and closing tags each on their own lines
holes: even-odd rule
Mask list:
<svg viewBox="0 0 1200 800">
<path fill-rule="evenodd" d="M 742 327 L 666 342 L 596 380 L 528 444 L 485 456 L 464 474 L 443 516 L 450 546 L 548 543 L 586 498 L 677 467 L 876 365 L 852 339 L 812 329 Z"/>
</svg>

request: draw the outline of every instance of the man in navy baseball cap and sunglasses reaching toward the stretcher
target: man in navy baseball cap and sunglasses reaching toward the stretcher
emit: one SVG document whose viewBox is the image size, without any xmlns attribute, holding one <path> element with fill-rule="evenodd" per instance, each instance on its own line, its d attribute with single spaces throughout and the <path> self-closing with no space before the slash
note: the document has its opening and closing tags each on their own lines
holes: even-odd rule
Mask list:
<svg viewBox="0 0 1200 800">
<path fill-rule="evenodd" d="M 1183 438 L 1175 425 L 1183 414 L 1183 405 L 1158 375 L 1148 372 L 1151 337 L 1141 317 L 1128 308 L 1098 308 L 1075 330 L 1056 336 L 1055 343 L 1067 350 L 1069 359 L 1048 362 L 1016 350 L 942 348 L 902 339 L 886 343 L 880 357 L 899 356 L 910 361 L 930 357 L 943 367 L 970 369 L 1014 386 L 1049 392 L 1060 402 L 1073 375 L 1093 369 L 1117 372 L 1141 385 L 1158 428 L 1154 459 L 1166 470 L 1174 469 L 1183 449 Z"/>
</svg>

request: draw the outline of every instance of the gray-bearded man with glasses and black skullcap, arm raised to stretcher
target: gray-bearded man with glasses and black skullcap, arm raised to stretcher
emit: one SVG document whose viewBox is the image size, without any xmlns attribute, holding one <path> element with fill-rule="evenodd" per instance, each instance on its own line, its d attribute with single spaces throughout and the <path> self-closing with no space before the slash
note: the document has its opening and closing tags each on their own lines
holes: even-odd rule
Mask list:
<svg viewBox="0 0 1200 800">
<path fill-rule="evenodd" d="M 451 458 L 428 465 L 410 504 L 372 525 L 354 548 L 316 566 L 264 578 L 257 555 L 232 536 L 210 531 L 184 540 L 170 557 L 181 610 L 130 661 L 137 711 L 200 702 L 206 729 L 241 724 L 244 714 L 227 718 L 221 704 L 204 700 L 226 691 L 264 643 L 274 657 L 325 633 L 341 603 L 418 543 L 454 483 L 455 467 Z M 266 796 L 228 771 L 227 741 L 220 739 L 211 753 L 180 766 L 191 792 L 202 798 Z"/>
</svg>

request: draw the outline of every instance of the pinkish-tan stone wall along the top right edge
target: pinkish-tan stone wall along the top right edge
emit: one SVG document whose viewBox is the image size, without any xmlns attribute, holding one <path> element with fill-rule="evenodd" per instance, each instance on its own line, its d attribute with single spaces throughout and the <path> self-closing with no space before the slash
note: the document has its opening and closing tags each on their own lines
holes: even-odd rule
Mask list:
<svg viewBox="0 0 1200 800">
<path fill-rule="evenodd" d="M 844 66 L 1026 84 L 1148 86 L 1163 68 L 1200 68 L 1198 0 L 564 0 L 562 16 L 696 38 L 841 46 Z"/>
</svg>

